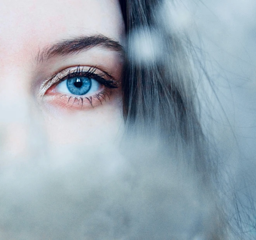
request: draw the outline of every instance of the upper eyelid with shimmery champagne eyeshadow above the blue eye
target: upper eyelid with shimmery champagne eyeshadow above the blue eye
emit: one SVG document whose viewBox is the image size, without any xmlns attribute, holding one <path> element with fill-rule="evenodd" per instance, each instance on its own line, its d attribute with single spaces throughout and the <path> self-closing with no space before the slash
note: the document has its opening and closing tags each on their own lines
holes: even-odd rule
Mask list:
<svg viewBox="0 0 256 240">
<path fill-rule="evenodd" d="M 59 81 L 61 81 L 61 79 L 67 77 L 71 71 L 75 72 L 78 68 L 87 69 L 87 70 L 93 68 L 93 69 L 95 69 L 94 73 L 96 73 L 96 74 L 98 73 L 98 74 L 101 74 L 102 77 L 107 76 L 107 78 L 112 79 L 112 76 L 110 74 L 107 74 L 105 71 L 100 70 L 96 66 L 80 66 L 80 65 L 78 65 L 78 66 L 74 66 L 74 67 L 68 67 L 66 69 L 58 71 L 57 73 L 55 73 L 51 77 L 49 77 L 47 80 L 45 80 L 42 83 L 42 85 L 40 86 L 38 96 L 42 97 L 51 86 L 53 86 L 54 84 L 57 84 Z"/>
</svg>

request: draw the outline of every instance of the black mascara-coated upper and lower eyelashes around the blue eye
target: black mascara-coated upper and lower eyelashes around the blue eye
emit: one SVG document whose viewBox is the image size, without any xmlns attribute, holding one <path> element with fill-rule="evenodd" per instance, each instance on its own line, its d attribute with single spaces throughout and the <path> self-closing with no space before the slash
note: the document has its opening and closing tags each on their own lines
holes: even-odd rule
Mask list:
<svg viewBox="0 0 256 240">
<path fill-rule="evenodd" d="M 53 77 L 51 77 L 50 81 L 48 82 L 51 82 L 53 81 L 54 79 L 57 79 L 57 82 L 54 82 L 52 84 L 50 84 L 50 86 L 48 87 L 47 91 L 49 89 L 51 89 L 52 87 L 54 86 L 57 86 L 59 83 L 67 80 L 68 78 L 70 77 L 77 77 L 77 76 L 83 76 L 83 77 L 88 77 L 88 78 L 91 78 L 97 82 L 99 82 L 100 85 L 103 85 L 105 86 L 106 88 L 108 89 L 113 89 L 113 88 L 118 88 L 119 87 L 119 82 L 113 80 L 112 76 L 110 74 L 107 74 L 106 72 L 102 72 L 102 74 L 97 74 L 95 73 L 98 69 L 96 67 L 89 67 L 88 70 L 84 70 L 85 67 L 81 67 L 80 65 L 76 67 L 76 69 L 72 70 L 69 70 L 68 74 L 64 77 L 61 77 L 59 78 L 58 77 L 58 74 L 60 74 L 61 72 L 63 72 L 64 70 L 58 72 L 57 74 L 55 74 Z M 107 77 L 108 80 L 106 80 L 105 78 Z M 45 91 L 45 93 L 47 92 Z M 61 93 L 59 93 L 61 94 Z M 67 103 L 69 103 L 70 99 L 71 98 L 74 98 L 74 102 L 73 104 L 75 103 L 75 101 L 78 102 L 78 104 L 80 103 L 80 100 L 81 100 L 81 103 L 82 103 L 82 106 L 81 108 L 83 107 L 83 100 L 86 99 L 90 105 L 92 106 L 93 108 L 93 104 L 92 104 L 92 99 L 93 98 L 96 98 L 97 100 L 99 100 L 99 102 L 102 104 L 102 99 L 104 99 L 106 101 L 106 98 L 108 97 L 109 98 L 109 91 L 107 91 L 106 89 L 100 91 L 99 93 L 95 93 L 94 95 L 92 96 L 81 96 L 81 97 L 77 97 L 77 96 L 70 96 L 68 94 L 61 94 L 60 98 L 62 96 L 69 96 L 68 98 L 68 101 Z M 72 106 L 73 106 L 72 104 Z"/>
</svg>

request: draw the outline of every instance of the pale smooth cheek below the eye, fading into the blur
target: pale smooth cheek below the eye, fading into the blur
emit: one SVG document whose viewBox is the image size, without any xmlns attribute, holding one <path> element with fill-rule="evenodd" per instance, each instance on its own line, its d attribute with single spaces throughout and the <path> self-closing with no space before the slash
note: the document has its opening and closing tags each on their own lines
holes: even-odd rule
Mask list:
<svg viewBox="0 0 256 240">
<path fill-rule="evenodd" d="M 121 137 L 124 121 L 121 98 L 86 111 L 54 115 L 46 112 L 45 128 L 51 149 L 100 147 Z"/>
</svg>

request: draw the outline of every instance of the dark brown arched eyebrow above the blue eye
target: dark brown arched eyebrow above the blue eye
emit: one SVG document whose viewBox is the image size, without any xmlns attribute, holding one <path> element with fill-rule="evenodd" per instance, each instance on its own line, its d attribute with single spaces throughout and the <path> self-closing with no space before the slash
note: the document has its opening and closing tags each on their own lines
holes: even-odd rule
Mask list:
<svg viewBox="0 0 256 240">
<path fill-rule="evenodd" d="M 124 53 L 123 46 L 120 45 L 118 41 L 107 38 L 102 34 L 97 34 L 92 36 L 79 36 L 60 41 L 59 43 L 55 43 L 51 46 L 47 46 L 42 51 L 38 51 L 36 62 L 40 63 L 57 55 L 65 56 L 93 47 L 100 47 L 107 50 Z"/>
</svg>

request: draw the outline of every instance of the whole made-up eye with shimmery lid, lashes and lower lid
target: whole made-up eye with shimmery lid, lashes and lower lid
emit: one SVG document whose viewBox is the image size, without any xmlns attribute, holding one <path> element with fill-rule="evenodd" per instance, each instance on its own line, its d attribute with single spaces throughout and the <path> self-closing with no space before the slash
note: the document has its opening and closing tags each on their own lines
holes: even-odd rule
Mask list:
<svg viewBox="0 0 256 240">
<path fill-rule="evenodd" d="M 64 107 L 94 107 L 110 99 L 119 81 L 94 66 L 74 66 L 57 72 L 40 87 L 39 96 Z"/>
</svg>

